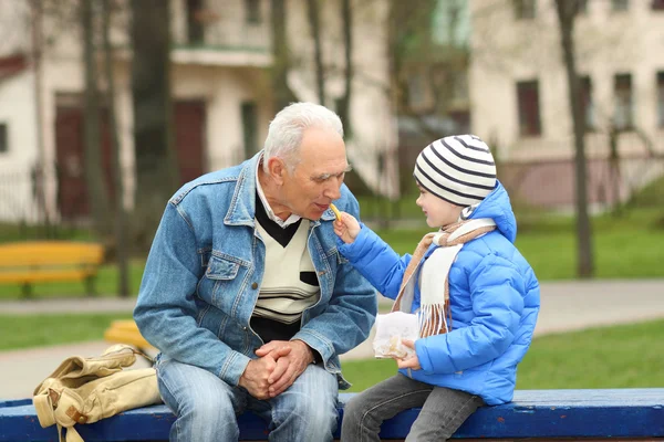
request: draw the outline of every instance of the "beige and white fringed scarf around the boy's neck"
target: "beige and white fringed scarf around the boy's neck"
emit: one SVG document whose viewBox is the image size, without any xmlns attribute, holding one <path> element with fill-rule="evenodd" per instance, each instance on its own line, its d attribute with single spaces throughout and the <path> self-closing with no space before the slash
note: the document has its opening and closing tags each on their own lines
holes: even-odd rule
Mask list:
<svg viewBox="0 0 664 442">
<path fill-rule="evenodd" d="M 440 231 L 436 233 L 427 233 L 419 241 L 404 273 L 398 295 L 392 306 L 392 312 L 402 311 L 409 313 L 414 296 L 413 283 L 417 280 L 413 278 L 413 283 L 411 283 L 412 276 L 417 273 L 416 271 L 423 264 L 423 257 L 432 244 L 444 248 L 442 251 L 446 254 L 443 256 L 442 267 L 444 269 L 439 269 L 440 272 L 444 272 L 444 280 L 440 280 L 444 281 L 444 286 L 439 291 L 433 291 L 433 293 L 427 291 L 425 294 L 424 291 L 421 291 L 421 338 L 452 330 L 448 284 L 449 269 L 465 243 L 495 229 L 496 223 L 489 218 L 466 220 L 440 228 Z"/>
</svg>

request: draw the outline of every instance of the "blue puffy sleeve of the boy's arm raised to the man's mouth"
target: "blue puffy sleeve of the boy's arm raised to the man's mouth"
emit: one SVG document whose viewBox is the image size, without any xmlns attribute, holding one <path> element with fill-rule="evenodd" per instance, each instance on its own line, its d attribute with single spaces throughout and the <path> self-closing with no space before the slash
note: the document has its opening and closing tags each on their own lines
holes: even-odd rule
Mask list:
<svg viewBox="0 0 664 442">
<path fill-rule="evenodd" d="M 381 294 L 394 299 L 411 255 L 400 256 L 370 228 L 360 225 L 362 229 L 354 242 L 346 244 L 336 239 L 339 251 Z"/>
</svg>

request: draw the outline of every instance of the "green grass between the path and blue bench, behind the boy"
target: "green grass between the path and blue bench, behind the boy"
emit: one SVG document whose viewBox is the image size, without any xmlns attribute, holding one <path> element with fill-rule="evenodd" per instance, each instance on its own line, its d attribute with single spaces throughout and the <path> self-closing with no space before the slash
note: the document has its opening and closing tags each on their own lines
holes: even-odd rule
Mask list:
<svg viewBox="0 0 664 442">
<path fill-rule="evenodd" d="M 664 385 L 664 320 L 593 328 L 533 339 L 519 365 L 518 389 L 649 388 Z M 396 373 L 390 359 L 343 364 L 362 391 Z"/>
</svg>

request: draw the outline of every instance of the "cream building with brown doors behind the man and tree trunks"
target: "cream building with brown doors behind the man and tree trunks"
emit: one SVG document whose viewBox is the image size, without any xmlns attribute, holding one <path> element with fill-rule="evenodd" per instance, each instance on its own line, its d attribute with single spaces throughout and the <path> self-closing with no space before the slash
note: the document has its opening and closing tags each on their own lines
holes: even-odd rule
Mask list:
<svg viewBox="0 0 664 442">
<path fill-rule="evenodd" d="M 7 179 L 9 183 L 0 182 L 0 192 L 11 201 L 0 208 L 0 220 L 84 220 L 89 214 L 83 170 L 84 69 L 75 8 L 68 13 L 60 10 L 58 17 L 44 10 L 37 17 L 29 3 L 0 2 L 0 29 L 11 28 L 8 34 L 15 36 L 0 43 L 0 175 L 15 175 Z M 397 173 L 396 161 L 378 167 L 397 143 L 387 92 L 387 3 L 360 3 L 352 2 L 355 75 L 349 159 L 370 187 L 394 196 L 398 189 L 390 183 L 396 180 L 385 175 Z M 114 104 L 125 200 L 131 206 L 135 146 L 129 3 L 118 4 L 112 28 Z M 289 86 L 298 99 L 319 102 L 307 2 L 289 0 L 287 7 L 293 60 Z M 183 181 L 238 164 L 262 147 L 277 110 L 269 75 L 273 63 L 269 8 L 268 0 L 170 0 L 173 124 Z M 321 2 L 324 104 L 333 109 L 344 92 L 340 11 L 339 0 Z M 106 85 L 100 77 L 103 92 Z M 110 181 L 107 120 L 102 112 L 102 157 Z"/>
</svg>

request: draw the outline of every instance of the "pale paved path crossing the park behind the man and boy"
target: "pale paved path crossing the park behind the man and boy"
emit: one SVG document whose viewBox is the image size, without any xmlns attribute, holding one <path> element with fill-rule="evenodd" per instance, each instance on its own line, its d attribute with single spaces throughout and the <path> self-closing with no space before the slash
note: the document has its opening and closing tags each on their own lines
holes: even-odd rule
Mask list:
<svg viewBox="0 0 664 442">
<path fill-rule="evenodd" d="M 134 302 L 114 298 L 2 302 L 0 313 L 127 313 L 132 311 Z M 391 303 L 390 299 L 381 299 L 382 308 L 388 308 Z M 541 287 L 541 311 L 535 333 L 536 336 L 541 336 L 654 318 L 664 318 L 664 280 L 544 283 Z M 342 360 L 373 357 L 371 341 L 372 337 L 343 355 Z M 34 387 L 66 357 L 95 356 L 106 347 L 107 343 L 93 341 L 0 351 L 0 399 L 30 397 Z"/>
</svg>

